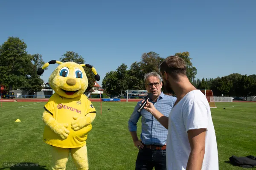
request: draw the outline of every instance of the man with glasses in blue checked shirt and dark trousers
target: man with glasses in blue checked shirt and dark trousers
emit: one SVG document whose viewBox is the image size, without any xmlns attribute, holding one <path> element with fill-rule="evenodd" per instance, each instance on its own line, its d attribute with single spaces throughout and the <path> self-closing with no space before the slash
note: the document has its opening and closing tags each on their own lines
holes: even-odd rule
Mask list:
<svg viewBox="0 0 256 170">
<path fill-rule="evenodd" d="M 156 72 L 145 74 L 145 88 L 148 93 L 153 94 L 149 100 L 154 107 L 165 116 L 169 116 L 170 111 L 176 101 L 176 97 L 163 94 L 162 79 Z M 139 149 L 135 170 L 166 170 L 166 139 L 168 130 L 161 125 L 151 113 L 143 109 L 138 113 L 138 108 L 142 101 L 138 102 L 128 121 L 128 129 L 134 142 L 134 146 Z M 140 139 L 137 136 L 137 122 L 141 118 L 142 130 Z"/>
</svg>

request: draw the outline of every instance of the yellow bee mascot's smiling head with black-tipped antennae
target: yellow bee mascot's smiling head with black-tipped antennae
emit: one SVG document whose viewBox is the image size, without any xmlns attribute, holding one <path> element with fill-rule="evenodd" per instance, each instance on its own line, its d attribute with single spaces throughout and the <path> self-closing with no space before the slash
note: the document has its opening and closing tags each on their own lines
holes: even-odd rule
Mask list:
<svg viewBox="0 0 256 170">
<path fill-rule="evenodd" d="M 76 62 L 60 62 L 52 60 L 43 65 L 37 71 L 38 75 L 44 73 L 44 69 L 49 64 L 59 64 L 49 77 L 49 85 L 58 95 L 66 98 L 75 98 L 86 91 L 88 87 L 88 79 L 84 72 L 84 66 L 92 69 L 95 79 L 99 81 L 100 77 L 96 69 L 89 64 L 77 64 Z"/>
</svg>

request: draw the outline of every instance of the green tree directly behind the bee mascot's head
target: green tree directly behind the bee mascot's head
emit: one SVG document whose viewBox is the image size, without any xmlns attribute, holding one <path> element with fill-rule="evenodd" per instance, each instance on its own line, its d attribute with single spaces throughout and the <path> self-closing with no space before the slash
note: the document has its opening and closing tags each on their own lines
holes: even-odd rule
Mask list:
<svg viewBox="0 0 256 170">
<path fill-rule="evenodd" d="M 60 58 L 61 62 L 70 62 L 71 61 L 71 62 L 76 62 L 77 64 L 85 64 L 84 58 L 74 51 L 67 51 L 62 56 L 63 57 Z M 94 78 L 93 71 L 91 71 L 91 68 L 84 67 L 84 72 L 88 79 L 88 87 L 87 87 L 86 91 L 92 91 L 94 82 L 96 81 Z"/>
</svg>

